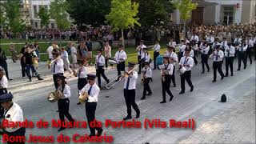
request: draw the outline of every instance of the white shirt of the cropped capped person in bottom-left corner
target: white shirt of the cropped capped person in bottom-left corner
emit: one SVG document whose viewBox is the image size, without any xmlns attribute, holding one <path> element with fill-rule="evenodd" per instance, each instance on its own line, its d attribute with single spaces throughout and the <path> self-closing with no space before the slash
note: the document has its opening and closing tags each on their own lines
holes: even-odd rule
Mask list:
<svg viewBox="0 0 256 144">
<path fill-rule="evenodd" d="M 23 113 L 22 113 L 22 108 L 20 106 L 18 106 L 17 103 L 13 102 L 13 105 L 10 107 L 10 109 L 8 111 L 4 111 L 4 116 L 5 116 L 5 120 L 8 121 L 8 123 L 10 122 L 23 122 Z M 5 130 L 7 132 L 14 132 L 16 130 L 18 130 L 19 128 L 21 128 L 20 126 L 17 127 L 5 127 Z"/>
</svg>

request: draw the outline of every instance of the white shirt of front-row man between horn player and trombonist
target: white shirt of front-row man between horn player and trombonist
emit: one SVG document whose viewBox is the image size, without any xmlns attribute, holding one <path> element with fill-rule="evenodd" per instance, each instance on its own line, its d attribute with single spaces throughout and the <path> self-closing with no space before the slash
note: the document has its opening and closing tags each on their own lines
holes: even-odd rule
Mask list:
<svg viewBox="0 0 256 144">
<path fill-rule="evenodd" d="M 79 91 L 79 94 L 82 94 L 83 92 L 88 93 L 90 90 L 90 84 L 87 83 L 86 86 L 82 88 L 82 90 Z M 98 95 L 99 95 L 100 89 L 96 83 L 91 86 L 90 94 L 88 97 L 88 102 L 98 102 Z"/>
</svg>

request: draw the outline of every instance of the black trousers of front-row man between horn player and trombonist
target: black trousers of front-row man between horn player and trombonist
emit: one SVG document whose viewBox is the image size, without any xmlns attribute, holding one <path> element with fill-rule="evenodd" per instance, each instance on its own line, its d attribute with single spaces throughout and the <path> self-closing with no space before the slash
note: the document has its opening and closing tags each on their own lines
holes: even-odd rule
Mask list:
<svg viewBox="0 0 256 144">
<path fill-rule="evenodd" d="M 88 122 L 88 126 L 90 128 L 90 135 L 95 135 L 95 129 L 97 131 L 102 131 L 101 127 L 91 127 L 90 126 L 90 122 L 97 122 L 95 119 L 95 111 L 96 111 L 96 107 L 97 107 L 97 102 L 88 102 L 86 101 L 86 117 L 87 117 L 87 122 Z"/>
</svg>

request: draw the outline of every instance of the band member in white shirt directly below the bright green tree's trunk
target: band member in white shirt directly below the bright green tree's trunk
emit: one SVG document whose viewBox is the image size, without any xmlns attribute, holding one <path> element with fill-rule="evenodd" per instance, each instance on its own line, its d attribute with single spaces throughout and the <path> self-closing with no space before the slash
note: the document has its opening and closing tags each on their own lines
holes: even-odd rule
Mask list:
<svg viewBox="0 0 256 144">
<path fill-rule="evenodd" d="M 122 45 L 118 45 L 118 51 L 114 54 L 114 59 L 117 62 L 118 79 L 116 82 L 118 82 L 119 78 L 121 77 L 121 71 L 125 71 L 127 59 L 126 52 L 123 50 Z"/>
</svg>

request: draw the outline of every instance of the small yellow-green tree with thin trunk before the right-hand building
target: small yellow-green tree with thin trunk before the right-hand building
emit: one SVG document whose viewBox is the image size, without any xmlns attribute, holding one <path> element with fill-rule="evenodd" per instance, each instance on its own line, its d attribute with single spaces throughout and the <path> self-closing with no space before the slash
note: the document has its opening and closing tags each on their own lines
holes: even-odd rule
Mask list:
<svg viewBox="0 0 256 144">
<path fill-rule="evenodd" d="M 177 0 L 174 2 L 174 6 L 179 10 L 180 17 L 184 20 L 184 33 L 186 33 L 186 21 L 190 18 L 191 11 L 195 10 L 198 4 L 193 3 L 192 0 Z"/>
</svg>

